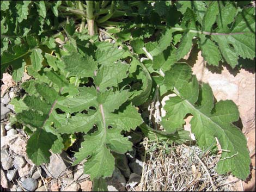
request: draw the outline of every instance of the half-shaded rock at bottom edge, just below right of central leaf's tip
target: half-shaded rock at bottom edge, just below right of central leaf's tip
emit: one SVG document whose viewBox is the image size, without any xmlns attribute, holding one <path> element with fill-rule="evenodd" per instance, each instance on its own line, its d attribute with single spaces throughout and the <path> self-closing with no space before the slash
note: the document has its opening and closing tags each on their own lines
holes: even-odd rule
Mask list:
<svg viewBox="0 0 256 192">
<path fill-rule="evenodd" d="M 126 180 L 118 168 L 115 168 L 112 177 L 107 178 L 108 191 L 125 191 Z"/>
</svg>

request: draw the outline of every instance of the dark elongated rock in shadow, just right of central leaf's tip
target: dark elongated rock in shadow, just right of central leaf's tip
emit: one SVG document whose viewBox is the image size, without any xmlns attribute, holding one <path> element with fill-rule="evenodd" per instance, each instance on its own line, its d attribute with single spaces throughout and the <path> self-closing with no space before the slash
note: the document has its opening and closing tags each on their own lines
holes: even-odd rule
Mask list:
<svg viewBox="0 0 256 192">
<path fill-rule="evenodd" d="M 125 154 L 114 153 L 115 157 L 115 165 L 121 171 L 121 173 L 126 177 L 129 178 L 131 175 L 131 170 L 128 166 L 127 158 Z"/>
</svg>

